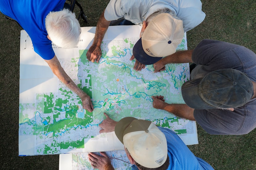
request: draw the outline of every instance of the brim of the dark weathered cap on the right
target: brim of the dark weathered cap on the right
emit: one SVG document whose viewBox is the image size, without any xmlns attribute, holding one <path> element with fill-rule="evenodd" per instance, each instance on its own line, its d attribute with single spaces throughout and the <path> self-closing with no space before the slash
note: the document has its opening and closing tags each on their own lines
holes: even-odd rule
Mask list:
<svg viewBox="0 0 256 170">
<path fill-rule="evenodd" d="M 206 103 L 198 93 L 198 85 L 202 79 L 194 79 L 185 82 L 181 87 L 181 94 L 186 105 L 193 109 L 215 109 L 213 105 Z"/>
</svg>

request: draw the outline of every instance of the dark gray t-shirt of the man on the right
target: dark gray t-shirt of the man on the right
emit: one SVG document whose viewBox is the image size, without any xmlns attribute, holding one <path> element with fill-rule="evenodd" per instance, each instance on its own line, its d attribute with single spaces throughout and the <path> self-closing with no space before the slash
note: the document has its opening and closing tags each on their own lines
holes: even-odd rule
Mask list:
<svg viewBox="0 0 256 170">
<path fill-rule="evenodd" d="M 191 79 L 204 77 L 218 69 L 237 69 L 256 82 L 256 54 L 240 45 L 216 40 L 201 41 L 192 53 L 197 66 Z M 234 111 L 222 109 L 194 110 L 199 125 L 210 134 L 242 135 L 256 128 L 256 98 Z"/>
</svg>

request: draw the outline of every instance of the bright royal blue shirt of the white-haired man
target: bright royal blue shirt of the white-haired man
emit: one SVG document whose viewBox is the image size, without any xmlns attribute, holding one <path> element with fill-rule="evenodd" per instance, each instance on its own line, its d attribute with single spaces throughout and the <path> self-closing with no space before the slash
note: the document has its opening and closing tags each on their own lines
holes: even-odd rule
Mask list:
<svg viewBox="0 0 256 170">
<path fill-rule="evenodd" d="M 34 51 L 43 59 L 50 60 L 55 53 L 52 42 L 47 38 L 45 18 L 51 11 L 63 9 L 65 0 L 0 0 L 0 11 L 16 20 L 30 36 Z"/>
</svg>

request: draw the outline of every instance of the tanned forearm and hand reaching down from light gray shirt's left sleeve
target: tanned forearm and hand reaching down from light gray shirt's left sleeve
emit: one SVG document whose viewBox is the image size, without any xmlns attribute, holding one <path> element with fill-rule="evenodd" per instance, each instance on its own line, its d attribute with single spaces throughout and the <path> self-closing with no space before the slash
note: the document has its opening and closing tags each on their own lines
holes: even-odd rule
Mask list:
<svg viewBox="0 0 256 170">
<path fill-rule="evenodd" d="M 94 62 L 96 60 L 97 63 L 100 61 L 101 58 L 101 42 L 111 22 L 105 19 L 104 12 L 105 10 L 101 14 L 99 21 L 97 23 L 93 45 L 89 48 L 88 52 L 86 53 L 87 59 L 89 61 Z"/>
</svg>

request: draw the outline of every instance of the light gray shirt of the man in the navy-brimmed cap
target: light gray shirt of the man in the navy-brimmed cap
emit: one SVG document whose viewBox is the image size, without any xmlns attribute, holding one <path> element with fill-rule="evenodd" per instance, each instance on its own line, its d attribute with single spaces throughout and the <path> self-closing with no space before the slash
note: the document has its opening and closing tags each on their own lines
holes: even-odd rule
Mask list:
<svg viewBox="0 0 256 170">
<path fill-rule="evenodd" d="M 134 24 L 141 24 L 159 9 L 169 8 L 183 21 L 187 32 L 204 21 L 200 0 L 110 0 L 104 13 L 108 21 L 124 17 Z"/>
</svg>

